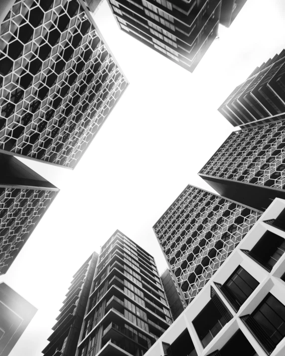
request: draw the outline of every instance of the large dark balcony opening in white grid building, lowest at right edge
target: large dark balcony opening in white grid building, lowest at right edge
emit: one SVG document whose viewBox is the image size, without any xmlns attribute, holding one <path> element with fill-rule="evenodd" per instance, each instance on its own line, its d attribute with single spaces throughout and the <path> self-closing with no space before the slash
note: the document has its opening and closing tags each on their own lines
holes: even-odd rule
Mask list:
<svg viewBox="0 0 285 356">
<path fill-rule="evenodd" d="M 285 337 L 285 306 L 271 293 L 252 314 L 242 316 L 241 320 L 267 355 Z"/>
</svg>

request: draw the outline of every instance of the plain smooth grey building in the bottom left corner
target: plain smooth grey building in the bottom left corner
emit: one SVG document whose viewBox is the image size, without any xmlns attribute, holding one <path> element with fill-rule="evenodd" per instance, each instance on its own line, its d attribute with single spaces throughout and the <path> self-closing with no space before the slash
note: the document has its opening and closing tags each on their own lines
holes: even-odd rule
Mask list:
<svg viewBox="0 0 285 356">
<path fill-rule="evenodd" d="M 6 283 L 0 283 L 0 356 L 8 356 L 37 309 Z"/>
</svg>

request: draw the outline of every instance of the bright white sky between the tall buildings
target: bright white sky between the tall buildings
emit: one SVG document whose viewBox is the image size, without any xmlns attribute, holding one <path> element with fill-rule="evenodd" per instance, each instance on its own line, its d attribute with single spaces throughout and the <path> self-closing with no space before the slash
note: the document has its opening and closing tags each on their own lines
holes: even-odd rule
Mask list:
<svg viewBox="0 0 285 356">
<path fill-rule="evenodd" d="M 248 0 L 220 26 L 194 73 L 120 31 L 105 2 L 95 21 L 130 85 L 74 171 L 22 159 L 61 189 L 4 280 L 39 310 L 10 356 L 39 356 L 72 275 L 116 229 L 166 262 L 152 226 L 233 130 L 217 111 L 285 47 L 285 0 Z"/>
</svg>

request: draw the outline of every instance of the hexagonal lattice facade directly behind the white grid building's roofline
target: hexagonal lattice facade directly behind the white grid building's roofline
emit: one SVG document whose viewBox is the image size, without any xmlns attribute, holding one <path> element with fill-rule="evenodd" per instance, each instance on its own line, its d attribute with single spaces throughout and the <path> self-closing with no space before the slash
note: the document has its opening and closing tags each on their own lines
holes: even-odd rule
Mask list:
<svg viewBox="0 0 285 356">
<path fill-rule="evenodd" d="M 188 185 L 153 230 L 186 302 L 204 287 L 261 212 Z"/>
</svg>

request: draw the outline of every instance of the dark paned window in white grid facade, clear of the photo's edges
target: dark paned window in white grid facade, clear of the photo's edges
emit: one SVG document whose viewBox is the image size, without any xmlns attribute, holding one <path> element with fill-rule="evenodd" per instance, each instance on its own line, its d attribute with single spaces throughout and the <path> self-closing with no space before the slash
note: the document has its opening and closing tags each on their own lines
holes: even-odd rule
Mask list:
<svg viewBox="0 0 285 356">
<path fill-rule="evenodd" d="M 226 292 L 239 308 L 259 285 L 243 267 L 239 266 L 230 278 L 224 283 Z M 229 300 L 230 301 L 230 300 Z M 231 302 L 231 301 L 230 301 Z"/>
</svg>

